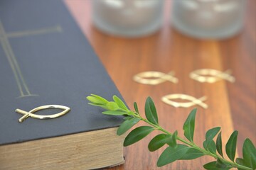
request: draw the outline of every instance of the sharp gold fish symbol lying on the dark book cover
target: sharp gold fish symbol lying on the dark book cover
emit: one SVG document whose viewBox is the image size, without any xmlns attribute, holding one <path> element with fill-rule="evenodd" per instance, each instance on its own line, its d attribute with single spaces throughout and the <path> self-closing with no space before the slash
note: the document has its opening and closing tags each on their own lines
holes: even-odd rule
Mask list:
<svg viewBox="0 0 256 170">
<path fill-rule="evenodd" d="M 34 113 L 36 113 L 37 111 L 41 111 L 41 110 L 44 110 L 44 109 L 49 109 L 49 108 L 60 108 L 62 109 L 63 111 L 60 112 L 60 113 L 55 113 L 53 115 L 36 115 Z M 27 111 L 23 111 L 21 109 L 16 109 L 16 113 L 20 113 L 22 114 L 23 116 L 18 119 L 18 121 L 20 123 L 23 122 L 23 120 L 25 120 L 26 118 L 28 117 L 31 117 L 31 118 L 36 118 L 36 119 L 52 119 L 52 118 L 58 118 L 62 115 L 65 115 L 66 113 L 68 113 L 70 111 L 70 108 L 68 108 L 67 106 L 61 106 L 61 105 L 45 105 L 45 106 L 39 106 L 37 108 L 33 108 L 31 111 L 27 112 Z"/>
</svg>

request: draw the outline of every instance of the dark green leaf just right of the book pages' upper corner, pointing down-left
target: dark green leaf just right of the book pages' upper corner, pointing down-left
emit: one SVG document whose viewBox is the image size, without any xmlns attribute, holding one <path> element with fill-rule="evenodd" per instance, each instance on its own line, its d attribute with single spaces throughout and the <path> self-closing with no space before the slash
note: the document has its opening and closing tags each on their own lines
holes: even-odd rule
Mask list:
<svg viewBox="0 0 256 170">
<path fill-rule="evenodd" d="M 127 137 L 125 137 L 124 140 L 124 147 L 127 147 L 129 145 L 134 144 L 135 142 L 138 142 L 139 140 L 142 140 L 146 135 L 149 135 L 150 132 L 152 132 L 154 128 L 150 126 L 141 126 L 139 128 L 135 128 L 130 132 Z"/>
</svg>

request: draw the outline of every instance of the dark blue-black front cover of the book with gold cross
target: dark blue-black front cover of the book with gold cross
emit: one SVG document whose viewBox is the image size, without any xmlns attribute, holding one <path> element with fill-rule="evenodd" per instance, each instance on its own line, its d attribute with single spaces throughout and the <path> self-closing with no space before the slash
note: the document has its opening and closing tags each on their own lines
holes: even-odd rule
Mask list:
<svg viewBox="0 0 256 170">
<path fill-rule="evenodd" d="M 120 95 L 63 1 L 0 1 L 0 40 L 0 146 L 121 123 L 122 118 L 87 105 L 90 94 Z M 23 115 L 17 108 L 28 112 L 53 104 L 70 111 L 59 118 L 18 122 Z"/>
</svg>

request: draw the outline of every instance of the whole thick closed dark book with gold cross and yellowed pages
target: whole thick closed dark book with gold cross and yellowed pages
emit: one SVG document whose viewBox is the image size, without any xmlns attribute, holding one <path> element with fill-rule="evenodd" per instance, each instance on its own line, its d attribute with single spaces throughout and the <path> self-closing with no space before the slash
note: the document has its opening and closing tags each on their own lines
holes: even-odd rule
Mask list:
<svg viewBox="0 0 256 170">
<path fill-rule="evenodd" d="M 0 169 L 122 164 L 122 118 L 102 115 L 86 100 L 119 91 L 63 1 L 1 0 L 0 42 Z M 62 111 L 51 105 L 67 113 L 38 119 Z M 24 118 L 29 111 L 36 118 Z"/>
</svg>

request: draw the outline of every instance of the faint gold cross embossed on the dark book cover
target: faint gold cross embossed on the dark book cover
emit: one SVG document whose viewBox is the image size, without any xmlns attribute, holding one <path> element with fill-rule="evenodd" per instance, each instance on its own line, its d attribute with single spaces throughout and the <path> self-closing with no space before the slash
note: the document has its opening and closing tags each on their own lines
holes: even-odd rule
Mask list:
<svg viewBox="0 0 256 170">
<path fill-rule="evenodd" d="M 28 89 L 28 84 L 26 84 L 26 81 L 21 72 L 21 68 L 19 67 L 18 61 L 16 60 L 16 57 L 14 55 L 14 51 L 11 48 L 9 38 L 18 38 L 21 36 L 38 35 L 38 34 L 55 33 L 55 32 L 60 33 L 61 31 L 62 30 L 60 26 L 55 26 L 52 28 L 43 28 L 38 30 L 25 30 L 25 31 L 18 31 L 14 33 L 6 33 L 6 31 L 4 30 L 4 26 L 0 20 L 0 43 L 7 57 L 7 60 L 11 66 L 11 70 L 14 73 L 14 78 L 16 80 L 18 90 L 20 91 L 19 97 L 38 96 L 38 95 L 31 94 L 31 91 Z"/>
</svg>

